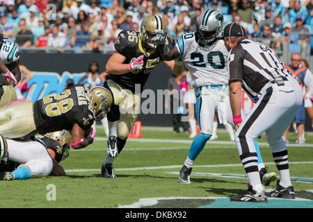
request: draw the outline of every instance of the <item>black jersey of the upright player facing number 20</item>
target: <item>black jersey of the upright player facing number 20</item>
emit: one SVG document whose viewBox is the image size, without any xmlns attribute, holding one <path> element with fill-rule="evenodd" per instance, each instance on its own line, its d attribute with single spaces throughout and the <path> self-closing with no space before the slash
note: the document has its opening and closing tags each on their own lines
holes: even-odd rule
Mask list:
<svg viewBox="0 0 313 222">
<path fill-rule="evenodd" d="M 163 49 L 163 51 L 170 51 L 174 46 L 175 44 L 172 40 L 166 37 L 165 45 L 162 47 L 169 49 Z M 136 74 L 131 72 L 123 75 L 109 74 L 107 79 L 114 80 L 115 83 L 132 92 L 135 92 L 135 85 L 140 84 L 142 91 L 150 72 L 163 60 L 161 48 L 158 47 L 157 50 L 146 51 L 141 44 L 141 37 L 138 32 L 122 31 L 118 34 L 118 38 L 115 41 L 115 49 L 122 56 L 126 57 L 124 64 L 134 61 L 139 56 L 145 56 L 143 59 L 143 69 Z"/>
</svg>

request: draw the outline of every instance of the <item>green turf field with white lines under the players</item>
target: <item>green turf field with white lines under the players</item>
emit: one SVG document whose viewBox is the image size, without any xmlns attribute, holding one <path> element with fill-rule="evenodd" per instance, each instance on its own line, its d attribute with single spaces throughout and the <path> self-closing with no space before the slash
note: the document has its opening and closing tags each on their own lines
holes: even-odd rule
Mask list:
<svg viewBox="0 0 313 222">
<path fill-rule="evenodd" d="M 247 189 L 247 178 L 235 145 L 218 133 L 195 162 L 191 184 L 178 182 L 178 172 L 191 140 L 170 130 L 144 129 L 143 139 L 129 140 L 115 160 L 117 178 L 102 178 L 106 138 L 98 129 L 95 144 L 71 151 L 62 162 L 67 177 L 0 181 L 0 207 L 313 207 L 313 136 L 307 146 L 293 146 L 290 134 L 289 162 L 297 200 L 268 199 L 268 203 L 230 203 L 226 197 Z M 264 142 L 264 138 L 260 139 Z M 269 171 L 277 169 L 271 151 L 261 145 Z M 47 200 L 49 186 L 56 200 Z M 266 189 L 272 189 L 266 187 Z"/>
</svg>

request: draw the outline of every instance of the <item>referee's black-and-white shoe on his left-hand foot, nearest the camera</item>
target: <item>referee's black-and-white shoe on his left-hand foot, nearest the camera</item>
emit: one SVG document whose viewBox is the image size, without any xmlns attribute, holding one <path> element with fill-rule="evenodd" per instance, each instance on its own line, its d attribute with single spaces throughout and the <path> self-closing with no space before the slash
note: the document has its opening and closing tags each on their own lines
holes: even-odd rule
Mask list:
<svg viewBox="0 0 313 222">
<path fill-rule="evenodd" d="M 264 189 L 261 192 L 257 192 L 252 189 L 251 185 L 248 185 L 248 190 L 243 194 L 238 194 L 237 196 L 232 196 L 230 201 L 240 201 L 240 202 L 267 202 Z"/>
</svg>

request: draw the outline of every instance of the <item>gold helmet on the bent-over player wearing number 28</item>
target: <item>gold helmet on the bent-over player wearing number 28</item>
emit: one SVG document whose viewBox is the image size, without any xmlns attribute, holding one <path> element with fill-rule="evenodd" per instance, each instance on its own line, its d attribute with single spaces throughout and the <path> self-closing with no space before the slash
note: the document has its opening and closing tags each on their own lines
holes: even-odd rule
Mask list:
<svg viewBox="0 0 313 222">
<path fill-rule="evenodd" d="M 102 120 L 111 108 L 113 101 L 111 92 L 104 87 L 96 86 L 88 91 L 87 96 L 93 106 L 95 121 Z"/>
</svg>

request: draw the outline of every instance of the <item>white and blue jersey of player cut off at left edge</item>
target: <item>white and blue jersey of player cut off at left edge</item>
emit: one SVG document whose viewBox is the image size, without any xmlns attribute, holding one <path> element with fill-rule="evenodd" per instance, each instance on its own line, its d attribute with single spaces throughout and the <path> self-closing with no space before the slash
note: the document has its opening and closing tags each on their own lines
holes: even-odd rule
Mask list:
<svg viewBox="0 0 313 222">
<path fill-rule="evenodd" d="M 16 62 L 19 59 L 19 49 L 17 45 L 13 41 L 4 38 L 0 49 L 0 58 L 5 65 Z"/>
</svg>

